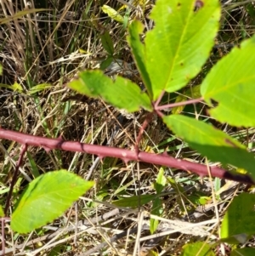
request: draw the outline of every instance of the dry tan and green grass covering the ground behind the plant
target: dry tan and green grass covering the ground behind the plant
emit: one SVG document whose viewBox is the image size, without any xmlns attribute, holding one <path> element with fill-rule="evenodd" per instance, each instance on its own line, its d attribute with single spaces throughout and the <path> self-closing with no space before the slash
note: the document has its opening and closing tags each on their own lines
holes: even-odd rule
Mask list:
<svg viewBox="0 0 255 256">
<path fill-rule="evenodd" d="M 13 2 L 0 2 L 0 18 L 35 7 L 32 1 L 28 6 L 24 6 L 22 1 Z M 133 4 L 142 11 L 122 9 L 121 13 L 126 14 L 128 20 L 142 20 L 150 29 L 152 23 L 148 14 L 153 1 L 136 2 Z M 122 7 L 118 1 L 105 3 L 114 9 Z M 253 34 L 255 15 L 249 13 L 248 4 L 224 6 L 218 47 L 212 51 L 204 71 L 192 82 L 194 86 L 234 44 Z M 100 11 L 99 1 L 71 0 L 62 3 L 51 0 L 37 3 L 36 8 L 44 7 L 50 11 L 26 14 L 22 19 L 0 26 L 0 58 L 3 65 L 1 127 L 51 138 L 62 134 L 64 139 L 132 148 L 143 121 L 143 112 L 127 119 L 110 105 L 82 98 L 65 88 L 65 83 L 75 77 L 77 71 L 97 68 L 105 60 L 107 54 L 99 37 L 105 29 L 111 31 L 116 59 L 125 63 L 117 72 L 127 75 L 125 66 L 133 61 L 126 42 L 127 30 Z M 133 69 L 133 65 L 130 66 Z M 139 82 L 136 71 L 133 69 L 132 72 L 133 76 L 129 75 L 129 78 Z M 111 70 L 110 74 L 116 75 Z M 3 87 L 3 84 L 13 85 L 14 82 L 20 84 L 20 89 L 14 91 Z M 52 86 L 31 94 L 31 88 L 43 83 Z M 179 92 L 185 93 L 185 89 Z M 194 109 L 184 111 L 195 114 Z M 204 106 L 197 111 L 207 115 Z M 254 138 L 254 130 L 247 135 L 246 131 L 236 131 L 228 126 L 221 128 L 232 136 L 239 136 L 243 142 Z M 204 162 L 200 155 L 170 134 L 157 119 L 144 134 L 141 147 L 144 151 L 155 152 L 167 148 L 173 156 Z M 20 145 L 2 140 L 0 149 L 1 204 L 4 205 Z M 155 217 L 161 220 L 157 233 L 162 233 L 162 236 L 147 237 L 150 236 L 150 203 L 132 210 L 116 208 L 111 202 L 118 196 L 155 193 L 152 184 L 160 167 L 137 162 L 126 166 L 118 159 L 107 158 L 101 162 L 95 156 L 60 151 L 46 153 L 38 148 L 30 148 L 29 154 L 15 187 L 13 203 L 31 179 L 54 169 L 69 169 L 84 179 L 96 180 L 97 185 L 54 223 L 29 235 L 14 234 L 7 225 L 5 242 L 8 255 L 99 255 L 102 252 L 103 255 L 137 255 L 138 251 L 143 256 L 177 255 L 187 242 L 212 242 L 217 239 L 218 221 L 231 198 L 242 189 L 241 185 L 222 180 L 221 191 L 215 197 L 212 195 L 215 195 L 216 179 L 201 180 L 194 174 L 165 168 L 168 183 L 161 196 L 163 213 L 161 217 Z M 191 200 L 198 193 L 211 198 L 204 207 Z M 93 248 L 94 252 L 89 251 Z"/>
</svg>

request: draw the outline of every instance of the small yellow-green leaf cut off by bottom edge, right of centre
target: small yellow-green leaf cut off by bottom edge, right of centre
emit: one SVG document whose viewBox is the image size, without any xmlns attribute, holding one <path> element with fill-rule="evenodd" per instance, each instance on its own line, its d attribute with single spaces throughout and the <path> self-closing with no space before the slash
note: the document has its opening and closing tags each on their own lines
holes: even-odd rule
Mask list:
<svg viewBox="0 0 255 256">
<path fill-rule="evenodd" d="M 212 248 L 206 242 L 185 244 L 181 256 L 214 256 Z"/>
</svg>

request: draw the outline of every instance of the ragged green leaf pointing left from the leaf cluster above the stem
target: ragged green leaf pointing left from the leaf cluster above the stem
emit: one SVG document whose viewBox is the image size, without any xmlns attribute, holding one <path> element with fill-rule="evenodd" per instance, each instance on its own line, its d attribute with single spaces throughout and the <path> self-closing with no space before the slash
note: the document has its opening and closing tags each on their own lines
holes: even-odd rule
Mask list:
<svg viewBox="0 0 255 256">
<path fill-rule="evenodd" d="M 69 83 L 69 87 L 80 94 L 90 97 L 102 97 L 117 108 L 129 112 L 139 111 L 140 107 L 151 111 L 152 107 L 147 94 L 139 86 L 123 77 L 116 77 L 113 82 L 102 71 L 83 71 L 79 79 Z"/>
</svg>

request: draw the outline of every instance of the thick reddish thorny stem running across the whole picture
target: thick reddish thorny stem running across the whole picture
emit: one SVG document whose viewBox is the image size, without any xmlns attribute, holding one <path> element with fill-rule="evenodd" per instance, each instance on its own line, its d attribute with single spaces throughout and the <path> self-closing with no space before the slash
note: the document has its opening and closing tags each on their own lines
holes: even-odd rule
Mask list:
<svg viewBox="0 0 255 256">
<path fill-rule="evenodd" d="M 5 130 L 3 128 L 0 128 L 0 138 L 13 140 L 23 145 L 40 146 L 43 147 L 46 151 L 59 149 L 63 151 L 86 152 L 88 154 L 97 155 L 101 158 L 105 156 L 110 156 L 120 158 L 124 162 L 149 162 L 152 164 L 167 166 L 169 168 L 179 168 L 185 171 L 191 171 L 200 176 L 208 175 L 206 165 L 176 159 L 172 156 L 167 156 L 167 154 L 157 155 L 143 151 L 139 151 L 139 153 L 137 154 L 135 151 L 119 149 L 116 147 L 109 147 L 103 145 L 89 145 L 83 144 L 78 141 L 66 141 L 60 138 L 49 139 L 45 137 L 33 136 L 29 134 L 22 134 L 19 132 Z M 218 177 L 221 179 L 231 179 L 238 182 L 254 185 L 253 180 L 248 175 L 232 174 L 222 168 L 214 166 L 211 167 L 211 173 L 213 177 Z"/>
</svg>

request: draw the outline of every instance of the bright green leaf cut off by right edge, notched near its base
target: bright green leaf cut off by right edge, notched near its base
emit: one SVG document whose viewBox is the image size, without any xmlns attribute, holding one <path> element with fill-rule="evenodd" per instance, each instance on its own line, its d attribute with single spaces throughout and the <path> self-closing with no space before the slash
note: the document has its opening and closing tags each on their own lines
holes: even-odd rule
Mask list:
<svg viewBox="0 0 255 256">
<path fill-rule="evenodd" d="M 219 122 L 233 126 L 255 126 L 255 36 L 233 48 L 231 53 L 212 67 L 201 84 L 201 94 L 209 105 L 211 100 L 218 105 L 210 110 Z"/>
</svg>

